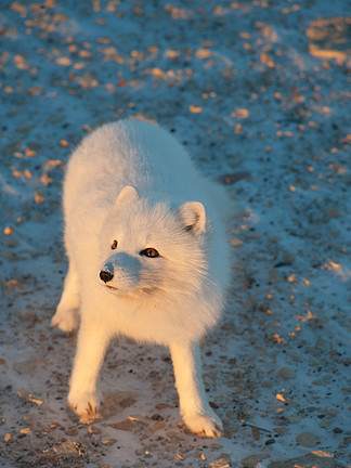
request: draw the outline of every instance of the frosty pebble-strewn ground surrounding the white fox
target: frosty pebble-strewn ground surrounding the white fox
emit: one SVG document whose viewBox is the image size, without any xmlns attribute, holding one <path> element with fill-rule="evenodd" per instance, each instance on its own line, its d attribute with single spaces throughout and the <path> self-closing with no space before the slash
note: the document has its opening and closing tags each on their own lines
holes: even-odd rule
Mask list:
<svg viewBox="0 0 351 468">
<path fill-rule="evenodd" d="M 347 0 L 1 2 L 1 467 L 350 466 L 350 14 Z M 132 116 L 171 130 L 245 210 L 203 347 L 220 440 L 179 425 L 167 350 L 126 339 L 102 419 L 66 408 L 76 338 L 49 326 L 63 170 L 90 128 Z"/>
</svg>

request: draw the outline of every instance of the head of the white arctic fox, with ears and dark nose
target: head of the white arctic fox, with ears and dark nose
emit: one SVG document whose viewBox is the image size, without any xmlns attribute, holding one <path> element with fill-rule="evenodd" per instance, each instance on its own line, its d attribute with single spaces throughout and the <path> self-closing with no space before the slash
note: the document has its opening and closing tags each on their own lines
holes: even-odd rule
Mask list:
<svg viewBox="0 0 351 468">
<path fill-rule="evenodd" d="M 194 294 L 206 278 L 206 232 L 199 202 L 151 204 L 127 185 L 103 226 L 98 281 L 120 296 Z"/>
</svg>

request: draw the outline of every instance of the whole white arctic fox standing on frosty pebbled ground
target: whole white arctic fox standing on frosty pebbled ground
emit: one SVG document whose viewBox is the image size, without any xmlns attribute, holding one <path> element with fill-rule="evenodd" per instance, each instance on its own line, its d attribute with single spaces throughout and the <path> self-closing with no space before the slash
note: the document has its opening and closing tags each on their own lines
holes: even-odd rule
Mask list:
<svg viewBox="0 0 351 468">
<path fill-rule="evenodd" d="M 78 326 L 69 406 L 99 417 L 96 380 L 109 340 L 170 349 L 187 428 L 219 437 L 199 339 L 218 321 L 230 278 L 224 188 L 202 177 L 168 132 L 141 120 L 99 128 L 72 155 L 63 191 L 68 273 L 52 326 Z"/>
</svg>

